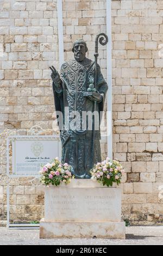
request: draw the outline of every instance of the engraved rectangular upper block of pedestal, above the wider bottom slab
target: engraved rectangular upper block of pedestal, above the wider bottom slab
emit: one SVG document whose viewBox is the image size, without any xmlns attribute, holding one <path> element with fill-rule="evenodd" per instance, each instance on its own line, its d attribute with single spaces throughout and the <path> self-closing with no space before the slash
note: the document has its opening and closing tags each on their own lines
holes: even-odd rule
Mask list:
<svg viewBox="0 0 163 256">
<path fill-rule="evenodd" d="M 121 189 L 46 187 L 45 220 L 121 221 Z"/>
</svg>

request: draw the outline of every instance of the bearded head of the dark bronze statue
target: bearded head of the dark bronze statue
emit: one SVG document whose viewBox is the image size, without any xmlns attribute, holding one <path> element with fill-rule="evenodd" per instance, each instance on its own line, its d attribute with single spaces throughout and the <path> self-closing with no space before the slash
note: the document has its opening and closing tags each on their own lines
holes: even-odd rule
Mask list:
<svg viewBox="0 0 163 256">
<path fill-rule="evenodd" d="M 86 42 L 83 39 L 74 41 L 72 51 L 77 62 L 82 62 L 85 59 L 85 54 L 87 52 Z"/>
</svg>

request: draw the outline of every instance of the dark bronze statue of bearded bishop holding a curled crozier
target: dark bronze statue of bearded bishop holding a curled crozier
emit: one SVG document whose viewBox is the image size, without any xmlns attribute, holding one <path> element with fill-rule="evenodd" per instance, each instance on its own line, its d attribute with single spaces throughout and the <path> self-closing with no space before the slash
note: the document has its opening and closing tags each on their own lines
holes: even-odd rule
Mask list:
<svg viewBox="0 0 163 256">
<path fill-rule="evenodd" d="M 87 115 L 88 112 L 98 114 L 103 112 L 105 94 L 108 90 L 100 66 L 97 64 L 98 39 L 102 45 L 108 42 L 105 34 L 96 36 L 95 61 L 85 57 L 86 42 L 80 39 L 73 43 L 74 59 L 62 64 L 60 75 L 54 66 L 50 67 L 55 111 L 57 117 L 59 112 L 63 116 L 62 122 L 58 121 L 62 162 L 71 164 L 76 178 L 90 178 L 90 169 L 101 161 L 100 118 L 98 129 L 95 129 L 96 119 L 95 115 L 92 115 L 90 129 L 90 119 Z"/>
</svg>

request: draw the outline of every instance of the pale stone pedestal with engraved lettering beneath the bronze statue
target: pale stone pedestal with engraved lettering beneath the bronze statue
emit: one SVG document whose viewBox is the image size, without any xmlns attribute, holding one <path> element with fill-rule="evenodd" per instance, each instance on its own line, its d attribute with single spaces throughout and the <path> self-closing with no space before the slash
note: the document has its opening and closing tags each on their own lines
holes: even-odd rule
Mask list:
<svg viewBox="0 0 163 256">
<path fill-rule="evenodd" d="M 125 238 L 121 221 L 121 188 L 90 179 L 45 188 L 45 218 L 40 238 Z"/>
</svg>

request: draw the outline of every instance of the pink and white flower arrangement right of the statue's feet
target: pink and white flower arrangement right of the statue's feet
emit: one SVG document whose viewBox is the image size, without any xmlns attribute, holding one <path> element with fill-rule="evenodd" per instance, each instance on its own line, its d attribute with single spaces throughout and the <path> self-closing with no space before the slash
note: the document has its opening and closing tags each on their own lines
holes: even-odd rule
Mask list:
<svg viewBox="0 0 163 256">
<path fill-rule="evenodd" d="M 95 164 L 90 173 L 92 180 L 109 187 L 112 186 L 113 182 L 116 182 L 117 185 L 121 183 L 124 170 L 120 162 L 109 160 L 107 157 L 103 162 Z"/>
</svg>

